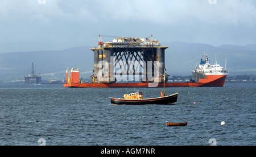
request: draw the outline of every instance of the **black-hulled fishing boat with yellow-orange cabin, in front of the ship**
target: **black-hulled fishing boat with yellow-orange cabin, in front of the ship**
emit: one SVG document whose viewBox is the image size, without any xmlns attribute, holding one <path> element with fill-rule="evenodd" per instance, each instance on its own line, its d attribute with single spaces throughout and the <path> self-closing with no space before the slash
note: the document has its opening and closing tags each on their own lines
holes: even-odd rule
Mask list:
<svg viewBox="0 0 256 157">
<path fill-rule="evenodd" d="M 143 99 L 142 92 L 135 92 L 130 94 L 124 94 L 123 98 L 111 98 L 112 105 L 146 105 L 146 104 L 158 104 L 158 105 L 170 105 L 176 104 L 177 95 L 179 93 L 172 94 L 170 96 L 163 96 L 156 98 Z"/>
</svg>

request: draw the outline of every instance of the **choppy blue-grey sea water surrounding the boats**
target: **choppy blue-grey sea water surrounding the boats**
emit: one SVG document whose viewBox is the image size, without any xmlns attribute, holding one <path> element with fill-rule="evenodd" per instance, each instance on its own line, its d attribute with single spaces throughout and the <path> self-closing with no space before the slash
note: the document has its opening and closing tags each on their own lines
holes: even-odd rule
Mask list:
<svg viewBox="0 0 256 157">
<path fill-rule="evenodd" d="M 162 88 L 135 90 L 149 98 Z M 44 138 L 46 145 L 209 145 L 214 138 L 217 145 L 255 145 L 255 91 L 256 84 L 167 88 L 179 93 L 176 105 L 114 106 L 110 97 L 134 88 L 0 85 L 0 144 L 39 145 Z"/>
</svg>

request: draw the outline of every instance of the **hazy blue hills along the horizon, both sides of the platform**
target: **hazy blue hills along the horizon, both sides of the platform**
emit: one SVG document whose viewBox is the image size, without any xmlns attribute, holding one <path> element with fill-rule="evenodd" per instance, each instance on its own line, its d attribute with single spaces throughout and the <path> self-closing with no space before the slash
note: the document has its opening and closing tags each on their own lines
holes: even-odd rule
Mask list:
<svg viewBox="0 0 256 157">
<path fill-rule="evenodd" d="M 169 75 L 188 76 L 192 74 L 204 52 L 212 63 L 215 57 L 218 64 L 225 67 L 227 58 L 230 75 L 256 74 L 256 44 L 236 46 L 225 44 L 214 47 L 209 44 L 169 42 L 161 43 L 166 49 L 166 69 Z M 65 69 L 79 68 L 81 77 L 92 75 L 93 51 L 91 47 L 71 47 L 61 51 L 31 51 L 0 53 L 0 81 L 23 80 L 31 72 L 34 63 L 36 75 L 44 79 L 65 77 Z"/>
</svg>

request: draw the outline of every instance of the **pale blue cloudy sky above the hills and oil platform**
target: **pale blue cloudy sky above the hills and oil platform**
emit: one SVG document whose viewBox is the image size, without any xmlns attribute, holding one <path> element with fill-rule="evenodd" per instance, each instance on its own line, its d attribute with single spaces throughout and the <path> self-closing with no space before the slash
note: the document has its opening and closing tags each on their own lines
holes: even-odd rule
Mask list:
<svg viewBox="0 0 256 157">
<path fill-rule="evenodd" d="M 126 36 L 160 43 L 256 44 L 255 0 L 1 0 L 0 53 L 96 47 Z M 107 35 L 107 36 L 103 36 Z"/>
</svg>

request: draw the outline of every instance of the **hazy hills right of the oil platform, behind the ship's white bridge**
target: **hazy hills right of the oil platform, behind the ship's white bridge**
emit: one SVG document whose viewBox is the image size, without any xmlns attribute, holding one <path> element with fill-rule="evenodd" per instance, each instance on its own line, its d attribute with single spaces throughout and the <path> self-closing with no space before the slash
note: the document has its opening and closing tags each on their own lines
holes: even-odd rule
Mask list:
<svg viewBox="0 0 256 157">
<path fill-rule="evenodd" d="M 256 59 L 256 44 L 213 47 L 208 44 L 172 42 L 162 46 L 169 47 L 166 49 L 166 68 L 171 75 L 191 75 L 204 52 L 212 63 L 217 60 L 222 67 L 225 67 L 227 59 L 227 67 L 232 75 L 256 74 L 253 64 Z"/>
</svg>

